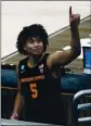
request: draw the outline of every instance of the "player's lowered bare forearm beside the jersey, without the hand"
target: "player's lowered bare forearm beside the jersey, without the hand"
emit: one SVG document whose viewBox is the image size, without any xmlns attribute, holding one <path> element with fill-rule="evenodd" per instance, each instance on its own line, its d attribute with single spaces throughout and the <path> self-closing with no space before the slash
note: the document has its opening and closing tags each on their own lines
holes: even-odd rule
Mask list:
<svg viewBox="0 0 91 126">
<path fill-rule="evenodd" d="M 22 111 L 22 108 L 24 106 L 24 100 L 23 97 L 20 92 L 17 92 L 16 99 L 15 99 L 15 104 L 14 104 L 14 110 L 13 113 L 20 114 Z"/>
</svg>

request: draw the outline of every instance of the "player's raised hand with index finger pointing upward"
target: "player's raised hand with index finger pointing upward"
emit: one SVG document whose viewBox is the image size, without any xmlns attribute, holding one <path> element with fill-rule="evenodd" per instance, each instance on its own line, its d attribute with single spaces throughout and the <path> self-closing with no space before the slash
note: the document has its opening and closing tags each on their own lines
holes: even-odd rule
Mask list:
<svg viewBox="0 0 91 126">
<path fill-rule="evenodd" d="M 69 7 L 69 24 L 70 28 L 78 27 L 80 23 L 80 15 L 79 14 L 73 14 L 72 7 Z"/>
</svg>

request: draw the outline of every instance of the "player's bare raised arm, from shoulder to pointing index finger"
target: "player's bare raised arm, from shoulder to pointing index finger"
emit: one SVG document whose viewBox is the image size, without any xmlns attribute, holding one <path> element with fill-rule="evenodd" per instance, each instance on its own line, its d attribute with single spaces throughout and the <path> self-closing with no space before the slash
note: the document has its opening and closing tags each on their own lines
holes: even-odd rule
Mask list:
<svg viewBox="0 0 91 126">
<path fill-rule="evenodd" d="M 72 7 L 69 8 L 69 25 L 72 33 L 70 49 L 66 51 L 56 51 L 49 55 L 48 66 L 51 68 L 54 64 L 67 65 L 80 54 L 80 37 L 78 26 L 80 23 L 80 15 L 73 14 Z"/>
</svg>

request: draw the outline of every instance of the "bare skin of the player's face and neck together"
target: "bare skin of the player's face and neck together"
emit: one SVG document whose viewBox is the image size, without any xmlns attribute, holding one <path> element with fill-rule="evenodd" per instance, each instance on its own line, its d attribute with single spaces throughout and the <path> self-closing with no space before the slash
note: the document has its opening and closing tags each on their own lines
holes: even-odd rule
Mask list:
<svg viewBox="0 0 91 126">
<path fill-rule="evenodd" d="M 34 67 L 43 55 L 43 43 L 39 37 L 32 37 L 26 41 L 24 50 L 28 52 L 28 64 Z"/>
</svg>

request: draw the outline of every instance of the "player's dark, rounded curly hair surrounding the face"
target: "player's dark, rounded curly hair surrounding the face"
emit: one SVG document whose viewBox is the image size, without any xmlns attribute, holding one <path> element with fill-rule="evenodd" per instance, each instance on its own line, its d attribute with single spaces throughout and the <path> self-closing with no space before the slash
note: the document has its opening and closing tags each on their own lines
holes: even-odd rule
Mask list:
<svg viewBox="0 0 91 126">
<path fill-rule="evenodd" d="M 48 41 L 48 33 L 44 27 L 40 24 L 32 24 L 30 26 L 23 27 L 23 30 L 17 36 L 16 48 L 21 54 L 27 55 L 27 52 L 24 50 L 24 46 L 28 38 L 39 37 L 43 43 L 43 51 L 47 50 Z"/>
</svg>

